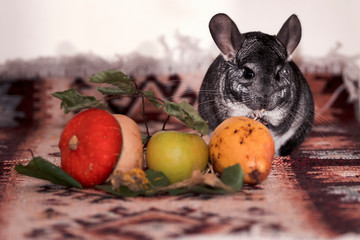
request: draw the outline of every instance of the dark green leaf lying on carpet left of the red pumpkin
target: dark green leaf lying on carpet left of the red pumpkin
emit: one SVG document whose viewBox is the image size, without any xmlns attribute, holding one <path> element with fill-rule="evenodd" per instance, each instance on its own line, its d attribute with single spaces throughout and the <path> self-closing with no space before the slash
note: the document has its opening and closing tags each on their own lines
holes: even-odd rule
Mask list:
<svg viewBox="0 0 360 240">
<path fill-rule="evenodd" d="M 15 170 L 22 175 L 48 180 L 55 184 L 82 188 L 81 184 L 72 176 L 42 157 L 33 158 L 26 166 L 18 164 L 15 166 Z"/>
</svg>

